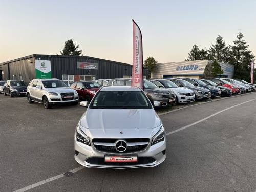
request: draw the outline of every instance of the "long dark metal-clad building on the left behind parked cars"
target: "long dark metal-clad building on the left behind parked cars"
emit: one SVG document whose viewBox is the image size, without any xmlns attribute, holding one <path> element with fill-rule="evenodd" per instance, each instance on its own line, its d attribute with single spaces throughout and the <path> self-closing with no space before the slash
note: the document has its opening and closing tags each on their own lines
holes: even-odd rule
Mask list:
<svg viewBox="0 0 256 192">
<path fill-rule="evenodd" d="M 143 69 L 144 76 L 147 70 Z M 0 63 L 0 80 L 58 78 L 74 81 L 131 77 L 132 65 L 87 56 L 29 55 Z"/>
</svg>

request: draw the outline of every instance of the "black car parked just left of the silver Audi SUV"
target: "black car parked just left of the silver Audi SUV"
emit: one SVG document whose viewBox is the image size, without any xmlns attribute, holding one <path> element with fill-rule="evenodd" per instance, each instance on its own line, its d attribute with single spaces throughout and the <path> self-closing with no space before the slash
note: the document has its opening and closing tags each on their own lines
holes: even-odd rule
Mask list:
<svg viewBox="0 0 256 192">
<path fill-rule="evenodd" d="M 27 94 L 27 84 L 22 80 L 8 80 L 4 85 L 4 95 L 23 96 Z"/>
</svg>

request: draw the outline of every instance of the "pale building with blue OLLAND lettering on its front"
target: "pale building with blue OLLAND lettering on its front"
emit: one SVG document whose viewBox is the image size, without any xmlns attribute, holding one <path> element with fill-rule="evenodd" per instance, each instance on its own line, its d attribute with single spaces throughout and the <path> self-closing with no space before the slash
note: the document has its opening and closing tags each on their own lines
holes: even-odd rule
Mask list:
<svg viewBox="0 0 256 192">
<path fill-rule="evenodd" d="M 176 78 L 176 77 L 194 77 L 200 78 L 204 74 L 205 66 L 212 63 L 211 60 L 195 60 L 183 62 L 158 63 L 151 73 L 151 78 Z M 228 63 L 220 63 L 223 74 L 218 77 L 232 78 L 234 66 Z"/>
</svg>

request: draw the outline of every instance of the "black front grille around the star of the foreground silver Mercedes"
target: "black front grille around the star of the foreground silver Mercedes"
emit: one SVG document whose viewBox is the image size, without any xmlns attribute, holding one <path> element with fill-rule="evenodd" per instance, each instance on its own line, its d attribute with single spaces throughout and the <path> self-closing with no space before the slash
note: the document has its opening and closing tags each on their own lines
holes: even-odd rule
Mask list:
<svg viewBox="0 0 256 192">
<path fill-rule="evenodd" d="M 127 143 L 126 150 L 119 152 L 116 149 L 116 141 L 124 140 Z M 150 139 L 148 138 L 135 138 L 135 139 L 93 139 L 92 140 L 96 150 L 106 153 L 134 153 L 143 151 L 148 146 Z"/>
</svg>

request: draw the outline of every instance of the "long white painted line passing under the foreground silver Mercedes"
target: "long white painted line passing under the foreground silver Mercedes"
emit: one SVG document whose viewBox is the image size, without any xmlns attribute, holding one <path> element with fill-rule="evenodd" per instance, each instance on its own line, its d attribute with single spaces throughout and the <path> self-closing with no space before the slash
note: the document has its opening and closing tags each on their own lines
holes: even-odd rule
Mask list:
<svg viewBox="0 0 256 192">
<path fill-rule="evenodd" d="M 201 120 L 199 120 L 199 121 L 196 121 L 196 122 L 191 123 L 191 124 L 189 124 L 189 125 L 183 126 L 183 127 L 179 128 L 179 129 L 177 129 L 177 130 L 174 130 L 174 131 L 172 131 L 172 132 L 168 132 L 168 133 L 166 133 L 166 136 L 167 136 L 167 135 L 174 134 L 174 133 L 177 133 L 177 132 L 182 131 L 182 130 L 185 130 L 185 129 L 187 129 L 187 128 L 190 127 L 190 126 L 196 125 L 196 124 L 198 124 L 198 123 L 200 123 L 200 122 L 202 122 L 202 121 L 205 121 L 206 119 L 209 119 L 209 118 L 211 118 L 211 117 L 214 117 L 214 116 L 216 116 L 216 115 L 218 115 L 218 114 L 220 114 L 220 113 L 222 113 L 222 112 L 224 112 L 224 111 L 230 110 L 230 109 L 232 109 L 232 108 L 235 108 L 236 106 L 243 105 L 243 104 L 245 104 L 245 103 L 248 103 L 248 102 L 251 102 L 251 101 L 254 101 L 254 100 L 256 100 L 256 99 L 251 99 L 251 100 L 242 102 L 242 103 L 240 103 L 240 104 L 236 104 L 236 105 L 230 106 L 229 108 L 226 108 L 226 109 L 224 109 L 224 110 L 221 110 L 221 111 L 219 111 L 219 112 L 216 112 L 216 113 L 214 113 L 214 114 L 211 114 L 210 116 L 205 117 L 205 118 L 203 118 L 203 119 L 201 119 Z M 191 105 L 191 106 L 193 106 L 193 105 Z M 75 172 L 78 172 L 79 170 L 82 170 L 82 169 L 84 169 L 84 168 L 85 168 L 84 166 L 80 166 L 80 167 L 77 167 L 77 168 L 75 168 L 75 169 L 73 169 L 73 170 L 70 170 L 69 172 L 75 173 Z M 59 178 L 62 178 L 62 177 L 65 177 L 64 174 L 60 174 L 60 175 L 51 177 L 51 178 L 46 179 L 46 180 L 43 180 L 43 181 L 39 181 L 39 182 L 34 183 L 34 184 L 32 184 L 32 185 L 29 185 L 29 186 L 26 186 L 26 187 L 24 187 L 24 188 L 15 190 L 14 192 L 25 192 L 25 191 L 27 191 L 27 190 L 29 190 L 29 189 L 38 187 L 38 186 L 40 186 L 40 185 L 43 185 L 43 184 L 45 184 L 45 183 L 49 183 L 49 182 L 51 182 L 51 181 L 54 181 L 54 180 L 59 179 Z"/>
</svg>

